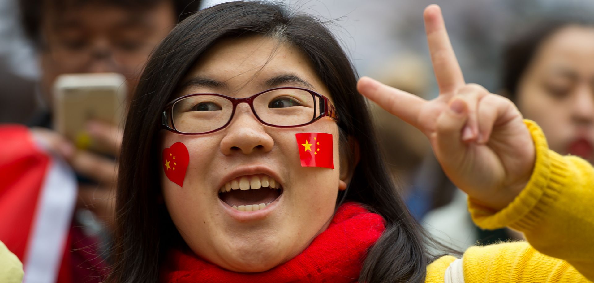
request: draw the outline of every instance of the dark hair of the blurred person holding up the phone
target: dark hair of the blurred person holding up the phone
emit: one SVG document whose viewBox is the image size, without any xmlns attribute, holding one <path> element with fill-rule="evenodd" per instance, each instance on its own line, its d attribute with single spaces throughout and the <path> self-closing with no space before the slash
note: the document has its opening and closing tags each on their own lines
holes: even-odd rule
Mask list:
<svg viewBox="0 0 594 283">
<path fill-rule="evenodd" d="M 39 47 L 41 23 L 43 22 L 44 11 L 48 11 L 47 5 L 51 2 L 52 7 L 64 10 L 65 7 L 76 7 L 85 4 L 105 4 L 125 9 L 144 10 L 154 7 L 163 1 L 172 1 L 175 8 L 175 15 L 178 22 L 194 14 L 200 8 L 200 0 L 19 0 L 21 12 L 21 24 L 26 36 Z"/>
</svg>

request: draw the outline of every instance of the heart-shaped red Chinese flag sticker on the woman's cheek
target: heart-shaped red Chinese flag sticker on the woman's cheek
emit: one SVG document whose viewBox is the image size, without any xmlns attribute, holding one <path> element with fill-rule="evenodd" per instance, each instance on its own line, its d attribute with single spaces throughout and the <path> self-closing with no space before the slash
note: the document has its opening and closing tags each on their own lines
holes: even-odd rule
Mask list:
<svg viewBox="0 0 594 283">
<path fill-rule="evenodd" d="M 174 143 L 163 149 L 163 171 L 165 175 L 179 187 L 184 187 L 185 171 L 188 169 L 189 153 L 183 143 Z"/>
</svg>

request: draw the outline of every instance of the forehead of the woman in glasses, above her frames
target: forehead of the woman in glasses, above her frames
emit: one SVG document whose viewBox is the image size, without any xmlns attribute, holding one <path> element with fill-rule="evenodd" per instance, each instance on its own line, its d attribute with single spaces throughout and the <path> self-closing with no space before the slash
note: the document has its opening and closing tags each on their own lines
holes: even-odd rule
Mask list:
<svg viewBox="0 0 594 283">
<path fill-rule="evenodd" d="M 295 46 L 264 36 L 224 39 L 204 52 L 179 89 L 192 92 L 260 92 L 278 86 L 327 94 L 307 56 Z M 183 94 L 182 94 L 183 95 Z"/>
</svg>

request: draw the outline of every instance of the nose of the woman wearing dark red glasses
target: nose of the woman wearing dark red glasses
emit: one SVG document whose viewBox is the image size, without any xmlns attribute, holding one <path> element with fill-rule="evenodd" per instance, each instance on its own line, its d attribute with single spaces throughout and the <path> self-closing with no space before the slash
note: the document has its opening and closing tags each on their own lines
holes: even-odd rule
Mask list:
<svg viewBox="0 0 594 283">
<path fill-rule="evenodd" d="M 226 135 L 221 140 L 221 151 L 225 155 L 242 152 L 245 155 L 255 152 L 269 152 L 274 140 L 263 125 L 254 116 L 246 103 L 237 106 L 233 120 L 225 129 Z"/>
</svg>

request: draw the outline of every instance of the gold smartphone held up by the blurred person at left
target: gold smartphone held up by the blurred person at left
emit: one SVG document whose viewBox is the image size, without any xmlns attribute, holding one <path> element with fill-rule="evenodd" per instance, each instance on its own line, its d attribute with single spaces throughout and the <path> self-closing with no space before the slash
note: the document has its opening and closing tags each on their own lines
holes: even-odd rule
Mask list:
<svg viewBox="0 0 594 283">
<path fill-rule="evenodd" d="M 121 74 L 63 74 L 53 86 L 53 127 L 79 149 L 109 153 L 87 131 L 87 122 L 102 121 L 122 127 L 127 96 Z"/>
</svg>

